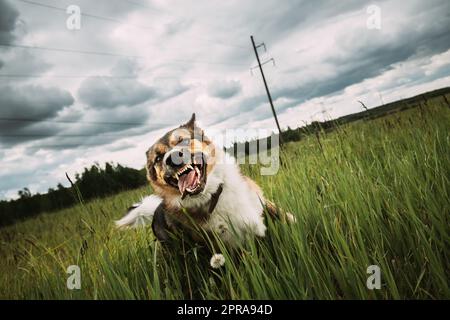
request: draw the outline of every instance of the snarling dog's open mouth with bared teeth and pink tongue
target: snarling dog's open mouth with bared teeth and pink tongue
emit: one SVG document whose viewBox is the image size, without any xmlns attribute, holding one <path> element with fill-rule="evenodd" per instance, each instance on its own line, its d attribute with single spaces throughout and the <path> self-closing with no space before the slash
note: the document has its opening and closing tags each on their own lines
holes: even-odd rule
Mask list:
<svg viewBox="0 0 450 320">
<path fill-rule="evenodd" d="M 171 177 L 171 185 L 178 187 L 182 199 L 203 190 L 206 183 L 205 167 L 203 156 L 198 156 L 193 163 L 184 165 Z"/>
</svg>

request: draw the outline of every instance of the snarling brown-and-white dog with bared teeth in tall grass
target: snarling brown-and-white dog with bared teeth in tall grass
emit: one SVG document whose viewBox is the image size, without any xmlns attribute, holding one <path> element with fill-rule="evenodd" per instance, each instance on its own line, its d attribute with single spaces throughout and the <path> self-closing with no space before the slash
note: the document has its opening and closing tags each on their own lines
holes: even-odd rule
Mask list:
<svg viewBox="0 0 450 320">
<path fill-rule="evenodd" d="M 168 241 L 177 230 L 195 228 L 236 246 L 249 237 L 264 237 L 265 210 L 294 222 L 264 198 L 261 188 L 241 174 L 234 159 L 217 148 L 197 126 L 195 113 L 170 130 L 146 152 L 147 178 L 154 194 L 129 208 L 116 225 L 136 227 L 150 221 L 156 238 Z"/>
</svg>

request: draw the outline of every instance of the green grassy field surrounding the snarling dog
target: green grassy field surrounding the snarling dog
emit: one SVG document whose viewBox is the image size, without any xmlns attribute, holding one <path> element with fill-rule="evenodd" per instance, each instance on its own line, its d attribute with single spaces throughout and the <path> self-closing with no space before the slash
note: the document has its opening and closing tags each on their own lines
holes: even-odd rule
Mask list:
<svg viewBox="0 0 450 320">
<path fill-rule="evenodd" d="M 0 298 L 449 299 L 449 129 L 450 108 L 433 99 L 289 143 L 275 176 L 244 165 L 298 221 L 223 248 L 219 269 L 185 242 L 167 252 L 150 228 L 114 228 L 148 188 L 5 227 Z M 66 287 L 69 265 L 80 290 Z M 379 290 L 366 286 L 370 265 Z"/>
</svg>

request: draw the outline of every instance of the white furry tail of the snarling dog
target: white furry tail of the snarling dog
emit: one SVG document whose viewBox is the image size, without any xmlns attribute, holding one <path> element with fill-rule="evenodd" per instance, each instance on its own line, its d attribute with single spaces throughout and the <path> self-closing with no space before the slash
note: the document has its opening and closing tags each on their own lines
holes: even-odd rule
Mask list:
<svg viewBox="0 0 450 320">
<path fill-rule="evenodd" d="M 145 226 L 151 223 L 156 208 L 161 204 L 162 199 L 154 194 L 145 197 L 141 202 L 133 204 L 128 208 L 127 214 L 117 220 L 118 228 Z"/>
</svg>

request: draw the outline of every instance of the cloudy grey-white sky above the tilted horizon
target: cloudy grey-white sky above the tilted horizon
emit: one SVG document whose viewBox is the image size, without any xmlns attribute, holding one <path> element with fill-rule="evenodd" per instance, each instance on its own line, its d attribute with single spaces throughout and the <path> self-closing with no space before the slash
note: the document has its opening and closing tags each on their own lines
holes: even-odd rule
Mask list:
<svg viewBox="0 0 450 320">
<path fill-rule="evenodd" d="M 250 35 L 282 127 L 450 84 L 448 0 L 0 0 L 0 199 L 94 162 L 142 168 L 193 111 L 274 129 Z"/>
</svg>

